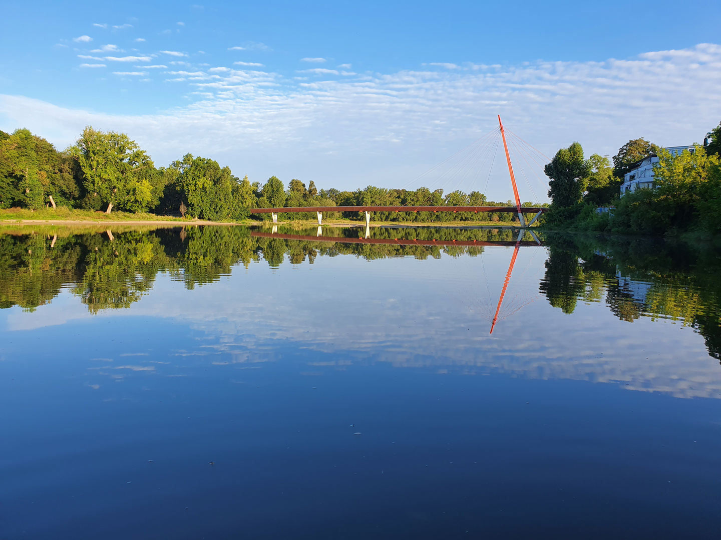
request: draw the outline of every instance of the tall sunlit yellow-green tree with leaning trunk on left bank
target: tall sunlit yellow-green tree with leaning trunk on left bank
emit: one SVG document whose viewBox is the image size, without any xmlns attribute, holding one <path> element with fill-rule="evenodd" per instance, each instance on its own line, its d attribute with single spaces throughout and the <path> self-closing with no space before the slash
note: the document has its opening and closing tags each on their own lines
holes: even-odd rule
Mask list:
<svg viewBox="0 0 721 540">
<path fill-rule="evenodd" d="M 130 212 L 146 210 L 152 199 L 147 177 L 155 171 L 150 156 L 125 133 L 102 132 L 87 126 L 70 149 L 79 163 L 87 205 L 107 204 Z"/>
</svg>

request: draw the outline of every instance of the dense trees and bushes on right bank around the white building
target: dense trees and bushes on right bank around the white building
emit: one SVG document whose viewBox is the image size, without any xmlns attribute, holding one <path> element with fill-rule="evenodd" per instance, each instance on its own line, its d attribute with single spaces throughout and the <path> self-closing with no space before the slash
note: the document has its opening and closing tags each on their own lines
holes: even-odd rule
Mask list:
<svg viewBox="0 0 721 540">
<path fill-rule="evenodd" d="M 613 233 L 721 231 L 721 123 L 707 135 L 707 144 L 676 155 L 643 138 L 629 140 L 613 165 L 609 156 L 584 158 L 580 143 L 561 148 L 544 169 L 552 199 L 544 223 Z M 624 174 L 650 156 L 658 156 L 653 187 L 622 197 Z"/>
</svg>

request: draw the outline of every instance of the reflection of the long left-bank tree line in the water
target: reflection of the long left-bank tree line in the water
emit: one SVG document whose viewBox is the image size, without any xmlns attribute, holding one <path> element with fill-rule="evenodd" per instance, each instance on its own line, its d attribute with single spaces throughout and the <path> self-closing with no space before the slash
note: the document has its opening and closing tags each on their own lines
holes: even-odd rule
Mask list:
<svg viewBox="0 0 721 540">
<path fill-rule="evenodd" d="M 339 237 L 358 238 L 360 229 L 334 229 Z M 280 231 L 281 233 L 283 230 Z M 291 230 L 313 234 L 317 230 Z M 514 239 L 510 230 L 373 229 L 373 238 L 417 240 Z M 187 289 L 217 281 L 233 266 L 266 261 L 277 267 L 283 261 L 312 264 L 318 256 L 352 254 L 373 260 L 414 256 L 438 258 L 477 255 L 480 247 L 396 246 L 253 238 L 248 228 L 116 228 L 76 229 L 27 227 L 0 233 L 0 307 L 18 305 L 27 310 L 45 305 L 65 286 L 70 287 L 91 312 L 129 307 L 153 287 L 164 271 Z"/>
</svg>

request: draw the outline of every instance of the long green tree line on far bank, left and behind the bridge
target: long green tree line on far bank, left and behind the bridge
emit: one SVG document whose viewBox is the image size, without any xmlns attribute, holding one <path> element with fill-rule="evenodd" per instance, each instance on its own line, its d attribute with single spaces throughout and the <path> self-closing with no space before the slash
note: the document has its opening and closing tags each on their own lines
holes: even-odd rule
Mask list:
<svg viewBox="0 0 721 540">
<path fill-rule="evenodd" d="M 353 192 L 317 189 L 291 179 L 286 186 L 276 176 L 265 184 L 247 176 L 234 176 L 228 166 L 188 153 L 167 167 L 156 167 L 149 154 L 125 133 L 103 132 L 86 127 L 74 145 L 57 150 L 48 140 L 19 129 L 0 131 L 0 209 L 21 207 L 40 210 L 63 206 L 110 213 L 180 213 L 209 221 L 239 221 L 255 208 L 312 206 L 506 206 L 489 202 L 480 192 L 466 194 L 443 189 L 386 189 L 367 186 Z M 536 206 L 524 202 L 524 206 Z M 270 215 L 257 214 L 257 220 Z M 311 219 L 311 212 L 286 214 L 284 220 Z M 337 217 L 330 215 L 329 217 Z M 358 217 L 344 212 L 343 217 Z M 511 222 L 508 212 L 377 212 L 381 220 L 441 222 Z"/>
</svg>

